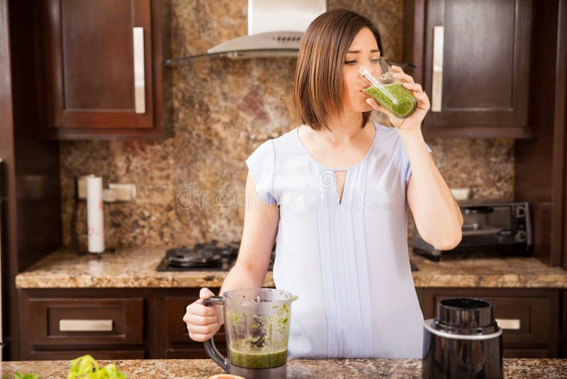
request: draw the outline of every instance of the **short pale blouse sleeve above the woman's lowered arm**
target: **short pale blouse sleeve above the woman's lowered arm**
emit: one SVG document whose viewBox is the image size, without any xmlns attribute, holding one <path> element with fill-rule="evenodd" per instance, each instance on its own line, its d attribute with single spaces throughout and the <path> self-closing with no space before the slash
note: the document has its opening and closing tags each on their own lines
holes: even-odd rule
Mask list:
<svg viewBox="0 0 567 379">
<path fill-rule="evenodd" d="M 254 180 L 258 197 L 262 202 L 275 204 L 273 185 L 276 153 L 274 141 L 268 140 L 259 145 L 254 153 L 247 158 L 246 165 Z"/>
</svg>

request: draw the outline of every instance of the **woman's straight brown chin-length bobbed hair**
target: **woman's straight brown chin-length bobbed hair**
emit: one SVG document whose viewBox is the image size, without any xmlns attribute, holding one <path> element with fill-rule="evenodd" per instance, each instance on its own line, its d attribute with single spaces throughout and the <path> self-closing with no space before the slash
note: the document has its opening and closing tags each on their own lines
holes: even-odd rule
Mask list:
<svg viewBox="0 0 567 379">
<path fill-rule="evenodd" d="M 378 28 L 348 9 L 335 9 L 315 18 L 303 35 L 297 59 L 293 99 L 301 122 L 318 130 L 342 110 L 342 68 L 349 46 L 362 28 L 369 28 L 383 56 Z M 362 113 L 362 127 L 372 111 Z"/>
</svg>

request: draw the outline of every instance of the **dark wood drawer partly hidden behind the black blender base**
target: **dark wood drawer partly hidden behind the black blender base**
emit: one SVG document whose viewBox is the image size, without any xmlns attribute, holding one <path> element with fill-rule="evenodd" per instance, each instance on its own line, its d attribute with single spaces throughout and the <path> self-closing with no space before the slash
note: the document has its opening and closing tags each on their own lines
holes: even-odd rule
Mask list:
<svg viewBox="0 0 567 379">
<path fill-rule="evenodd" d="M 467 295 L 470 296 L 470 295 Z M 439 301 L 452 296 L 435 296 L 435 307 Z M 491 302 L 494 317 L 504 329 L 504 347 L 546 346 L 549 344 L 549 319 L 551 300 L 546 297 L 499 297 L 475 295 Z"/>
</svg>

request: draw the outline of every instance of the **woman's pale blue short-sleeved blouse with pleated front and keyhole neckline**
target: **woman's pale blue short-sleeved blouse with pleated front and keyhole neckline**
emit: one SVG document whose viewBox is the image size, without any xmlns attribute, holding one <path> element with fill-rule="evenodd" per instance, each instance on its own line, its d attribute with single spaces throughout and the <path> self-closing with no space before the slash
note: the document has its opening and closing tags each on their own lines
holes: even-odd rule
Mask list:
<svg viewBox="0 0 567 379">
<path fill-rule="evenodd" d="M 259 198 L 280 211 L 274 282 L 298 295 L 291 358 L 422 357 L 408 258 L 410 162 L 398 131 L 374 125 L 371 148 L 352 167 L 318 163 L 298 128 L 246 160 Z M 347 172 L 340 202 L 333 171 Z"/>
</svg>

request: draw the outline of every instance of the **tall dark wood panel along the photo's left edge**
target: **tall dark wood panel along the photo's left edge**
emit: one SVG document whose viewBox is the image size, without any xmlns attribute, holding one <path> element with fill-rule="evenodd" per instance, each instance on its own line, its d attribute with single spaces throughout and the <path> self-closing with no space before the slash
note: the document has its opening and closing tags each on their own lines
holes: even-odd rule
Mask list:
<svg viewBox="0 0 567 379">
<path fill-rule="evenodd" d="M 16 274 L 61 246 L 59 144 L 40 141 L 32 1 L 0 1 L 0 156 L 4 181 L 4 296 L 9 359 L 18 359 Z"/>
</svg>

